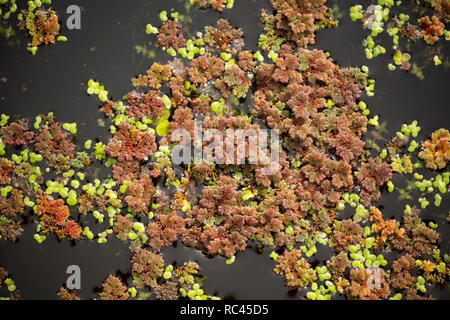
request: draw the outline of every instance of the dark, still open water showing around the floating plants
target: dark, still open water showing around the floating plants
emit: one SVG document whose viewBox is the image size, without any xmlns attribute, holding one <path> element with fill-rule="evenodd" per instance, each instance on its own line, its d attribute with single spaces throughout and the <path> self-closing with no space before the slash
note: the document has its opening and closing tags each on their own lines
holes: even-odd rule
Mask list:
<svg viewBox="0 0 450 320">
<path fill-rule="evenodd" d="M 106 127 L 97 125 L 97 120 L 102 117 L 98 112 L 98 100 L 86 94 L 85 83 L 90 78 L 97 79 L 115 99 L 128 92 L 131 89 L 129 79 L 145 72 L 154 61 L 137 54 L 134 49 L 135 45 L 150 47 L 149 39 L 155 39 L 145 34 L 145 25 L 152 23 L 159 26 L 160 10 L 173 8 L 185 14 L 184 1 L 53 2 L 62 21 L 67 18 L 67 6 L 77 4 L 82 7 L 81 30 L 69 31 L 64 26 L 62 34 L 69 40 L 40 48 L 34 57 L 26 51 L 26 39 L 22 35 L 19 36 L 20 46 L 15 48 L 7 46 L 5 39 L 1 38 L 0 77 L 7 78 L 7 82 L 0 82 L 0 113 L 15 119 L 53 111 L 60 122 L 78 123 L 79 142 L 96 137 L 105 142 L 110 136 Z M 422 139 L 438 128 L 450 128 L 449 71 L 432 64 L 423 70 L 425 81 L 421 81 L 405 72 L 388 71 L 389 54 L 372 61 L 366 60 L 361 45 L 366 33 L 358 23 L 352 23 L 347 14 L 353 2 L 340 1 L 341 11 L 346 16 L 340 20 L 338 28 L 320 31 L 317 44 L 313 47 L 329 51 L 341 67 L 365 64 L 370 68 L 370 76 L 376 79 L 375 96 L 363 98 L 372 114 L 380 115 L 380 123 L 387 121 L 385 138 L 399 130 L 403 122 L 413 120 L 418 120 L 422 127 Z M 256 50 L 261 32 L 258 18 L 261 7 L 270 8 L 269 2 L 237 0 L 233 10 L 224 10 L 223 14 L 192 7 L 189 16 L 194 23 L 187 23 L 184 31 L 190 36 L 204 25 L 215 24 L 218 18 L 224 17 L 232 25 L 242 28 L 247 48 Z M 417 45 L 419 50 L 424 47 Z M 448 49 L 446 44 L 443 50 L 447 56 L 450 53 Z M 156 61 L 169 58 L 158 49 L 155 52 Z M 395 177 L 393 182 L 401 186 L 402 177 Z M 407 202 L 398 201 L 397 196 L 398 193 L 385 192 L 376 204 L 383 207 L 385 217 L 401 215 Z M 439 223 L 442 253 L 449 252 L 446 220 L 449 208 L 448 196 L 443 197 L 441 206 L 435 208 L 430 205 L 426 211 L 429 217 L 425 217 Z M 96 298 L 96 288 L 108 274 L 118 274 L 126 279 L 131 270 L 131 252 L 114 237 L 102 245 L 88 240 L 74 245 L 67 240 L 58 242 L 55 236 L 48 235 L 47 240 L 39 245 L 33 239 L 35 226 L 31 213 L 28 221 L 19 241 L 0 241 L 0 265 L 11 274 L 22 298 L 54 299 L 67 279 L 67 266 L 72 264 L 81 267 L 82 289 L 79 296 L 83 299 Z M 319 252 L 310 261 L 324 261 L 333 254 L 331 249 L 323 246 L 318 245 L 318 249 Z M 275 263 L 269 258 L 269 253 L 269 250 L 258 253 L 256 246 L 251 244 L 246 252 L 236 256 L 234 264 L 226 265 L 222 257 L 209 259 L 178 243 L 175 248 L 163 250 L 163 257 L 167 264 L 197 261 L 201 274 L 206 277 L 204 289 L 208 294 L 230 299 L 296 298 L 296 293 L 290 292 L 282 278 L 272 272 Z M 129 285 L 131 281 L 128 279 Z M 437 298 L 450 298 L 448 287 L 432 288 L 431 292 Z M 0 295 L 5 296 L 4 292 Z"/>
</svg>

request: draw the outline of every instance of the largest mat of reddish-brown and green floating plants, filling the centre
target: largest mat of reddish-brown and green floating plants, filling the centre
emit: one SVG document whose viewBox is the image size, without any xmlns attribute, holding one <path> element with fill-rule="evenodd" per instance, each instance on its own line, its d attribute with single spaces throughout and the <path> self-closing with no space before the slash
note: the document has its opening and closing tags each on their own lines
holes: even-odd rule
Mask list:
<svg viewBox="0 0 450 320">
<path fill-rule="evenodd" d="M 193 2 L 216 10 L 225 4 Z M 368 126 L 379 124 L 362 101 L 362 92 L 370 95 L 374 87 L 367 68 L 340 68 L 327 53 L 303 48 L 314 43 L 318 27 L 332 23 L 325 1 L 271 3 L 274 14 L 263 14 L 267 56 L 245 50 L 242 31 L 224 19 L 187 39 L 177 14 L 160 14 L 162 26 L 147 30 L 171 61 L 154 62 L 131 79 L 133 89 L 118 101 L 99 82 L 88 82 L 88 94 L 103 103 L 109 141 L 75 144 L 76 124 L 61 125 L 51 113 L 37 116 L 31 129 L 26 120 L 2 115 L 2 239 L 16 240 L 21 215 L 32 209 L 39 243 L 50 233 L 130 243 L 132 283 L 109 275 L 99 294 L 105 300 L 139 299 L 148 289 L 157 299 L 215 299 L 203 291 L 197 263 L 164 261 L 161 251 L 177 241 L 228 264 L 255 241 L 272 250 L 274 272 L 287 286 L 306 288 L 308 299 L 430 298 L 427 287 L 445 283 L 450 269 L 437 224 L 426 223 L 413 204 L 401 219 L 387 219 L 375 202 L 384 189 L 394 191 L 393 174 L 404 174 L 414 175 L 422 209 L 436 190 L 438 207 L 450 174 L 427 180 L 414 171 L 421 166 L 413 164 L 417 122 L 403 125 L 379 154 L 368 148 Z M 268 164 L 251 163 L 249 147 L 233 153 L 242 164 L 215 163 L 224 145 L 207 161 L 173 163 L 172 152 L 184 143 L 209 150 L 211 140 L 195 137 L 199 125 L 223 134 L 277 130 L 279 142 L 270 141 L 279 151 L 275 170 L 267 174 Z M 177 140 L 177 129 L 190 138 Z M 233 137 L 231 145 L 240 142 Z M 446 167 L 447 130 L 422 147 L 418 158 L 427 168 Z M 104 179 L 100 167 L 108 168 Z M 344 218 L 343 210 L 351 215 Z M 320 246 L 334 254 L 313 263 Z M 388 252 L 395 252 L 394 261 Z M 59 296 L 76 298 L 65 289 Z"/>
</svg>

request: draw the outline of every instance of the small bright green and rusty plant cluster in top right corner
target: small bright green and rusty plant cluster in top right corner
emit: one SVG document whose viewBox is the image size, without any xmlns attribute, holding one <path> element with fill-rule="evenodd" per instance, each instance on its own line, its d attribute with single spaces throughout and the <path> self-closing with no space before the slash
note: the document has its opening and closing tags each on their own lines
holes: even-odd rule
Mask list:
<svg viewBox="0 0 450 320">
<path fill-rule="evenodd" d="M 371 5 L 363 8 L 362 5 L 354 5 L 350 8 L 350 17 L 353 21 L 361 20 L 364 28 L 370 30 L 363 40 L 366 57 L 372 59 L 380 54 L 387 52 L 386 48 L 376 42 L 379 34 L 386 33 L 392 37 L 393 63 L 388 64 L 388 69 L 393 71 L 397 67 L 402 70 L 410 70 L 423 79 L 423 74 L 418 67 L 418 61 L 411 67 L 411 44 L 418 39 L 423 39 L 426 44 L 433 46 L 440 38 L 449 39 L 449 33 L 445 27 L 449 21 L 450 5 L 446 0 L 425 0 L 414 3 L 415 8 L 409 12 L 399 12 L 401 1 L 379 0 L 377 5 Z M 410 4 L 408 4 L 410 5 Z M 430 10 L 431 8 L 431 10 Z M 431 11 L 431 13 L 430 13 Z M 413 17 L 419 12 L 416 21 Z M 408 52 L 409 51 L 409 52 Z M 431 59 L 435 65 L 442 63 L 445 58 L 440 50 L 428 50 L 433 57 Z M 442 59 L 442 60 L 441 60 Z M 427 62 L 427 61 L 425 61 Z"/>
</svg>

